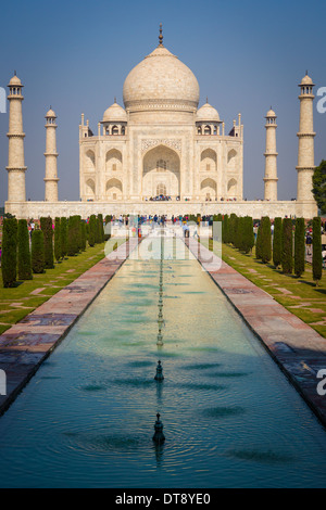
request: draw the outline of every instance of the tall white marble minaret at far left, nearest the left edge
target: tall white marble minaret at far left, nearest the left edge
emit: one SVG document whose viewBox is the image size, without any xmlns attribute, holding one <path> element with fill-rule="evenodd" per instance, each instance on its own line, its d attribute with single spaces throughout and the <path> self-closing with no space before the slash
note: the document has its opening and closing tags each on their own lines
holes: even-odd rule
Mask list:
<svg viewBox="0 0 326 510">
<path fill-rule="evenodd" d="M 9 82 L 9 151 L 8 151 L 8 202 L 26 202 L 22 94 L 23 85 L 14 76 Z"/>
</svg>

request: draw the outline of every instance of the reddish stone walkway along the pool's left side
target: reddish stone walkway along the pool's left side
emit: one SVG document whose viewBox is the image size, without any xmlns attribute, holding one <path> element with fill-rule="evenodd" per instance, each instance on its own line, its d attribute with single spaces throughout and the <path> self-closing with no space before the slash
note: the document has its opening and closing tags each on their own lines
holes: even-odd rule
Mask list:
<svg viewBox="0 0 326 510">
<path fill-rule="evenodd" d="M 138 244 L 130 238 L 108 257 L 53 295 L 0 335 L 0 370 L 7 374 L 7 395 L 0 395 L 0 416 L 64 339 Z"/>
</svg>

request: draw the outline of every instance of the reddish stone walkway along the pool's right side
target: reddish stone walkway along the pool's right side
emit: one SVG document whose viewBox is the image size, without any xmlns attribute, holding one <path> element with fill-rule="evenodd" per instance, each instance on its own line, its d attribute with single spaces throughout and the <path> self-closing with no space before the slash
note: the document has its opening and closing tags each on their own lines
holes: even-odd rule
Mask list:
<svg viewBox="0 0 326 510">
<path fill-rule="evenodd" d="M 326 369 L 326 339 L 197 240 L 186 244 L 326 426 L 326 395 L 317 393 L 317 372 Z"/>
</svg>

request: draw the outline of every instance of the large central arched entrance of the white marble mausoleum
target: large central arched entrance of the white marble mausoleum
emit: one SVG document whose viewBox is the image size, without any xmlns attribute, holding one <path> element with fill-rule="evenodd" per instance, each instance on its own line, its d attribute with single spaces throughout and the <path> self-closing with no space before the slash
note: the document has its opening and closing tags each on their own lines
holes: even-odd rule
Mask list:
<svg viewBox="0 0 326 510">
<path fill-rule="evenodd" d="M 172 199 L 180 194 L 180 160 L 165 145 L 151 149 L 142 161 L 142 196 L 150 199 L 160 194 Z"/>
</svg>

